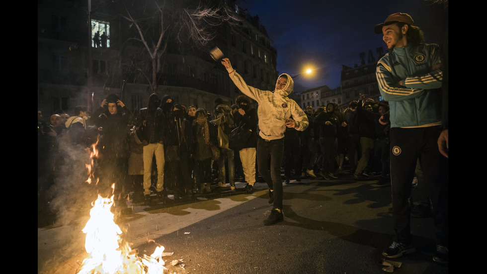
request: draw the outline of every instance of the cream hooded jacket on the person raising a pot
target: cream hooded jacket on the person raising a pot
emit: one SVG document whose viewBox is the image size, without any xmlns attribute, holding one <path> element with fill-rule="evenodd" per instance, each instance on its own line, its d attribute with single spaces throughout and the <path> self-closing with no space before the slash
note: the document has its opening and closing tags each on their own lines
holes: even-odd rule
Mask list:
<svg viewBox="0 0 487 274">
<path fill-rule="evenodd" d="M 284 137 L 286 131 L 286 119 L 296 121 L 296 130 L 303 131 L 309 126 L 308 117 L 299 105 L 287 96 L 293 91 L 294 82 L 291 76 L 287 76 L 287 84 L 283 90 L 261 91 L 247 86 L 232 67 L 227 69 L 230 79 L 242 91 L 243 94 L 257 101 L 257 115 L 259 118 L 259 136 L 265 140 L 276 140 Z M 281 77 L 279 76 L 279 77 Z"/>
</svg>

